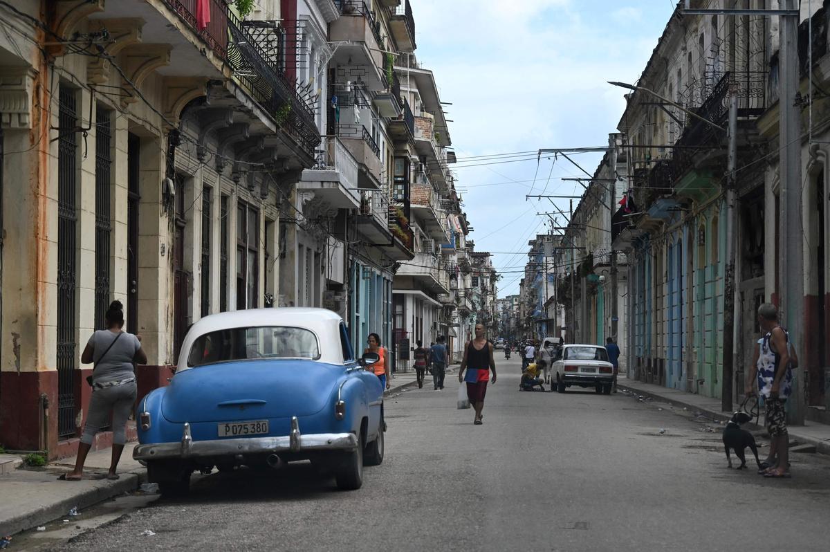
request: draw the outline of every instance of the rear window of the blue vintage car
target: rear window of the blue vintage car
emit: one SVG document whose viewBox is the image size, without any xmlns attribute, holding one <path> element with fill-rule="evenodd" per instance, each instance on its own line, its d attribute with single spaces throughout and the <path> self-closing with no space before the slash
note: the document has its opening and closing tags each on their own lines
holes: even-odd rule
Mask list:
<svg viewBox="0 0 830 552">
<path fill-rule="evenodd" d="M 310 330 L 257 326 L 216 330 L 199 336 L 188 354 L 188 366 L 229 360 L 319 358 L 317 336 Z"/>
</svg>

